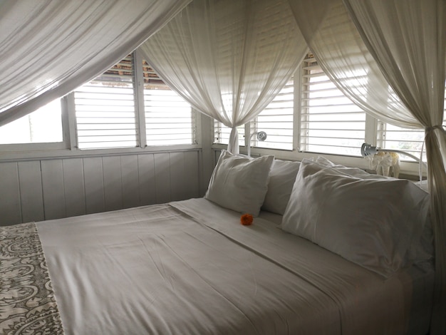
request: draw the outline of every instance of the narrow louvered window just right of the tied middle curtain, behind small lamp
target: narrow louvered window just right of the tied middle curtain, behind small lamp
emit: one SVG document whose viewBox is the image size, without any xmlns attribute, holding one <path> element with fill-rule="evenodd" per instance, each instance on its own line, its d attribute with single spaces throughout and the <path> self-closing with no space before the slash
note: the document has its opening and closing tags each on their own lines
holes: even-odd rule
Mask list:
<svg viewBox="0 0 446 335">
<path fill-rule="evenodd" d="M 251 121 L 250 133 L 264 131 L 266 140 L 251 141 L 251 146 L 293 150 L 294 79 L 286 83 L 269 105 Z"/>
</svg>

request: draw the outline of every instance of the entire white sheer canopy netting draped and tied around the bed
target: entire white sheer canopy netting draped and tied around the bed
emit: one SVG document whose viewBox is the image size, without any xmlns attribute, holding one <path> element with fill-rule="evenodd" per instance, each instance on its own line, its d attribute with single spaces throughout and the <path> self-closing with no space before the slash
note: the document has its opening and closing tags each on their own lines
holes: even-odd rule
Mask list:
<svg viewBox="0 0 446 335">
<path fill-rule="evenodd" d="M 446 334 L 445 0 L 190 1 L 1 1 L 0 126 L 90 81 L 152 36 L 142 44 L 146 60 L 197 110 L 232 128 L 229 150 L 237 153 L 235 128 L 279 93 L 308 45 L 367 113 L 425 129 L 431 333 Z"/>
</svg>

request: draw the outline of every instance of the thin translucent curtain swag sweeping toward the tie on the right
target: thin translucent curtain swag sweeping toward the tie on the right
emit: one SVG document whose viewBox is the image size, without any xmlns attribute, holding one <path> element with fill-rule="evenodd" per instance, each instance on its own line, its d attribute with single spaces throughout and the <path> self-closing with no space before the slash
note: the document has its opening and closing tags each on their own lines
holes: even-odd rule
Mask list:
<svg viewBox="0 0 446 335">
<path fill-rule="evenodd" d="M 289 2 L 318 64 L 348 98 L 375 118 L 420 128 L 381 73 L 342 0 Z"/>
</svg>

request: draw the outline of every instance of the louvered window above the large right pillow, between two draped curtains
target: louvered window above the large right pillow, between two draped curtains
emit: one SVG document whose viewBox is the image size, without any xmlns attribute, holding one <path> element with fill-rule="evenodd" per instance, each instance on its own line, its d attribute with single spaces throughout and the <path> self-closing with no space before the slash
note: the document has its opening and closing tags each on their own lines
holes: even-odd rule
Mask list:
<svg viewBox="0 0 446 335">
<path fill-rule="evenodd" d="M 300 149 L 360 155 L 365 112 L 336 88 L 311 54 L 304 59 L 302 80 Z"/>
</svg>

